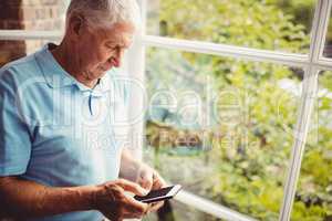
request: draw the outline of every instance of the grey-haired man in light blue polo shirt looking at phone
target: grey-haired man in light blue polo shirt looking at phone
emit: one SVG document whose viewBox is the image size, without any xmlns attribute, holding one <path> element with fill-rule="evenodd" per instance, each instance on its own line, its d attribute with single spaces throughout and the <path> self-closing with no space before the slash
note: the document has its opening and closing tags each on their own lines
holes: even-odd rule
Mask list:
<svg viewBox="0 0 332 221">
<path fill-rule="evenodd" d="M 46 44 L 1 69 L 0 210 L 6 215 L 118 221 L 162 207 L 132 197 L 165 182 L 116 137 L 127 91 L 113 67 L 131 45 L 137 13 L 135 0 L 72 0 L 60 45 Z"/>
</svg>

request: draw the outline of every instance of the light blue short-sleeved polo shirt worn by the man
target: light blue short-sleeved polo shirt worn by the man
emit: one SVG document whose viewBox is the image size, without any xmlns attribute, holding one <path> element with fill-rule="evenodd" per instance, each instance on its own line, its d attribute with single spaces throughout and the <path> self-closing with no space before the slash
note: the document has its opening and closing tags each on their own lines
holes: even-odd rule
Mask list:
<svg viewBox="0 0 332 221">
<path fill-rule="evenodd" d="M 125 82 L 110 71 L 89 88 L 59 65 L 49 46 L 0 70 L 0 177 L 51 187 L 114 180 L 127 141 Z M 82 211 L 35 220 L 102 219 Z"/>
</svg>

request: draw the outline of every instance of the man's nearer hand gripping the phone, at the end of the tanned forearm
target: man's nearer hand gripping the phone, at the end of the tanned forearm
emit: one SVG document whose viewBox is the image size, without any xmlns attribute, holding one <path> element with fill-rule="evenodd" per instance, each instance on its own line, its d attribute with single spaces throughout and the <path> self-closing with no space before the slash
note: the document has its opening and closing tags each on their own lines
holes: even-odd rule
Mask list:
<svg viewBox="0 0 332 221">
<path fill-rule="evenodd" d="M 132 196 L 128 196 L 128 192 L 138 196 L 147 193 L 137 183 L 118 179 L 97 186 L 97 188 L 94 207 L 112 221 L 141 219 L 149 211 L 148 204 L 136 201 Z"/>
</svg>

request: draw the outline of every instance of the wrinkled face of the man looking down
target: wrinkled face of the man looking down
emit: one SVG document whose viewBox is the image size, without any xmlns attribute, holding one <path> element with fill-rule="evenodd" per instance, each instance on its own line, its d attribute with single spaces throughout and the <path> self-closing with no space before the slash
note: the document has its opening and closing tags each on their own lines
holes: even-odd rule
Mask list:
<svg viewBox="0 0 332 221">
<path fill-rule="evenodd" d="M 86 78 L 97 80 L 106 71 L 121 65 L 124 51 L 132 43 L 134 27 L 117 23 L 112 29 L 83 29 L 76 42 L 80 70 Z"/>
</svg>

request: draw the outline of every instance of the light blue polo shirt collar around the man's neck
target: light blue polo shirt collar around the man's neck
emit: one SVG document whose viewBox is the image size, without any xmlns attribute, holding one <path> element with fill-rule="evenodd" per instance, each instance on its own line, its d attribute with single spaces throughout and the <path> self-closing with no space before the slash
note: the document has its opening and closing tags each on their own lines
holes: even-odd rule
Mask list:
<svg viewBox="0 0 332 221">
<path fill-rule="evenodd" d="M 43 49 L 37 53 L 35 59 L 38 65 L 40 66 L 45 82 L 52 88 L 62 88 L 65 86 L 76 85 L 82 92 L 92 92 L 93 95 L 102 95 L 107 91 L 112 90 L 112 81 L 108 76 L 108 73 L 105 74 L 102 78 L 100 78 L 98 84 L 92 90 L 84 84 L 80 83 L 72 75 L 70 75 L 54 59 L 52 53 L 50 52 L 50 46 L 54 44 L 48 43 L 43 46 Z"/>
</svg>

